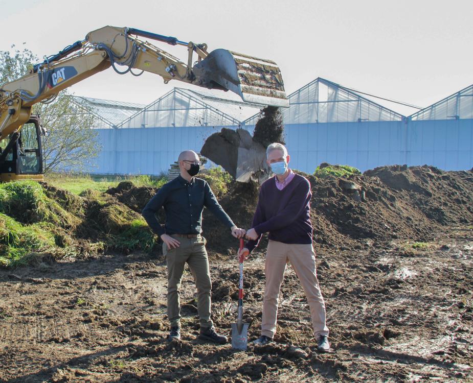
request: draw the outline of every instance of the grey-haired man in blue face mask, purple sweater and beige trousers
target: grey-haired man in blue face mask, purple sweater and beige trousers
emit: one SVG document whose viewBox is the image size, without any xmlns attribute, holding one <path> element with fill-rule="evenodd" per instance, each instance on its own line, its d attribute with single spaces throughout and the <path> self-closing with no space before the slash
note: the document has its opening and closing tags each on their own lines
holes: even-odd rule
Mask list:
<svg viewBox="0 0 473 383">
<path fill-rule="evenodd" d="M 319 289 L 316 255 L 312 248 L 309 181 L 292 172 L 287 164 L 289 155 L 280 143 L 272 143 L 266 151 L 267 163 L 276 175 L 261 185 L 252 229 L 246 232 L 249 241 L 239 256 L 246 257 L 269 232 L 264 271 L 266 286 L 263 299 L 261 337 L 253 343 L 264 345 L 273 341 L 276 333 L 279 290 L 287 261 L 294 268 L 307 297 L 312 317 L 317 349 L 330 350 L 328 327 L 325 323 L 325 303 Z"/>
</svg>

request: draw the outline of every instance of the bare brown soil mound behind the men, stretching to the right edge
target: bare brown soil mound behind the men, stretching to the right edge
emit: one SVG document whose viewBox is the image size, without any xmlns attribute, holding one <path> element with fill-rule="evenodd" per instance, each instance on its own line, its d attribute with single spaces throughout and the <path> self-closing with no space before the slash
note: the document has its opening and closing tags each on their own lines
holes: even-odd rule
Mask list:
<svg viewBox="0 0 473 383">
<path fill-rule="evenodd" d="M 334 174 L 340 171 L 329 164 L 320 167 L 333 168 Z M 359 249 L 372 241 L 396 238 L 429 241 L 442 226 L 473 223 L 471 171 L 444 172 L 432 166 L 393 165 L 363 175 L 345 172 L 344 177 L 330 172 L 318 173 L 323 177 L 298 173 L 311 184 L 316 246 Z M 135 211 L 140 211 L 148 196 L 156 192 L 153 188 L 120 185 L 118 191 L 108 193 L 115 193 L 119 201 Z M 257 201 L 258 185 L 253 182 L 232 182 L 228 191 L 219 195 L 223 209 L 236 225 L 246 229 L 252 225 Z M 164 222 L 164 211 L 159 218 Z M 211 254 L 228 255 L 236 251 L 237 241 L 230 230 L 207 209 L 202 229 Z M 263 241 L 261 249 L 264 245 Z"/>
</svg>

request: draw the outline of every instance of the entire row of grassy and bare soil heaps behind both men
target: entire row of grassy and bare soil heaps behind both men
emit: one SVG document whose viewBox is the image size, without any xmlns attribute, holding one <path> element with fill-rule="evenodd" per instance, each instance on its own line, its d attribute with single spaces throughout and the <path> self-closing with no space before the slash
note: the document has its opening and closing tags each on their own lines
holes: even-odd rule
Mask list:
<svg viewBox="0 0 473 383">
<path fill-rule="evenodd" d="M 322 170 L 332 167 L 325 164 Z M 339 174 L 340 169 L 333 169 Z M 328 171 L 316 173 L 319 177 L 301 174 L 311 183 L 311 220 L 318 247 L 359 250 L 373 241 L 429 241 L 443 226 L 473 223 L 471 171 L 393 165 L 344 177 Z M 235 224 L 251 228 L 258 185 L 208 181 Z M 86 190 L 75 196 L 46 183 L 6 184 L 0 189 L 2 264 L 11 266 L 29 254 L 80 258 L 106 250 L 160 252 L 155 247 L 157 236 L 141 216 L 157 190 L 125 181 L 107 193 Z M 158 219 L 164 223 L 163 209 Z M 238 244 L 230 230 L 207 209 L 202 228 L 211 255 L 235 253 Z"/>
</svg>

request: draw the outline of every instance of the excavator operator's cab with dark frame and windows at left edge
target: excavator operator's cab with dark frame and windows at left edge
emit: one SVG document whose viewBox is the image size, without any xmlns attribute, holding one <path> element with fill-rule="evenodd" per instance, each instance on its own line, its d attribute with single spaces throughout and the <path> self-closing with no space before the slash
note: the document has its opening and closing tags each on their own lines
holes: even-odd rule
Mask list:
<svg viewBox="0 0 473 383">
<path fill-rule="evenodd" d="M 0 141 L 0 180 L 33 179 L 43 181 L 44 164 L 39 117 L 32 115 L 26 124 Z"/>
</svg>

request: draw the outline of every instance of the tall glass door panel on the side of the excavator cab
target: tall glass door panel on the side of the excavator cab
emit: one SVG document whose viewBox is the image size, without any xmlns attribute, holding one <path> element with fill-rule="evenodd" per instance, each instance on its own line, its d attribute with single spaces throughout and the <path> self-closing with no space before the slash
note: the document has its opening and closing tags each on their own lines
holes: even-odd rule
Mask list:
<svg viewBox="0 0 473 383">
<path fill-rule="evenodd" d="M 36 125 L 25 124 L 21 128 L 20 137 L 18 138 L 19 173 L 39 173 L 40 161 Z"/>
</svg>

